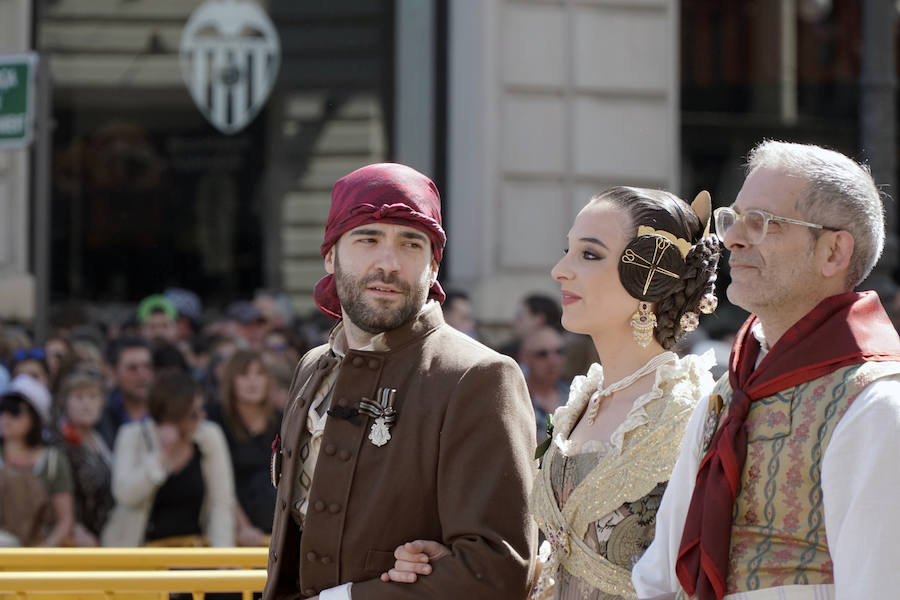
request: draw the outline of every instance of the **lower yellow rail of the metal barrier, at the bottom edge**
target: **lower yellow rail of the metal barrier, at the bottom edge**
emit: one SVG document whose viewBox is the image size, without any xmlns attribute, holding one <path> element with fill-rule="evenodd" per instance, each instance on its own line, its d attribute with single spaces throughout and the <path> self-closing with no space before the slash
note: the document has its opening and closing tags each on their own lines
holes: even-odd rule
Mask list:
<svg viewBox="0 0 900 600">
<path fill-rule="evenodd" d="M 225 571 L 19 571 L 0 573 L 0 597 L 10 594 L 18 600 L 35 598 L 105 598 L 187 592 L 202 600 L 207 592 L 241 592 L 251 600 L 262 591 L 266 572 L 262 569 Z M 52 594 L 52 595 L 49 595 Z M 74 596 L 73 596 L 74 595 Z"/>
</svg>

